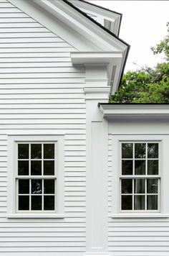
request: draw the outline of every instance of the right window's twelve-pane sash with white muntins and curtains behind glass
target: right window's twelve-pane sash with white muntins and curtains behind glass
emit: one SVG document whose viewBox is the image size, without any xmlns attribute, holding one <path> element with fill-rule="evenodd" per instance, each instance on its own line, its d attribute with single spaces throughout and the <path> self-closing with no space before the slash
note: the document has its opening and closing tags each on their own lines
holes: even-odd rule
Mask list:
<svg viewBox="0 0 169 256">
<path fill-rule="evenodd" d="M 160 211 L 158 142 L 121 142 L 120 210 Z"/>
</svg>

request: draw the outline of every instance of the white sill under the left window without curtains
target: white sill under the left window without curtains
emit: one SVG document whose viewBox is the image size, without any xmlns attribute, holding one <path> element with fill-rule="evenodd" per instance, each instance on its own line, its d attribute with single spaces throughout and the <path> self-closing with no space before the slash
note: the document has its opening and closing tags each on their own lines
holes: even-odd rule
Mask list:
<svg viewBox="0 0 169 256">
<path fill-rule="evenodd" d="M 7 218 L 9 219 L 64 219 L 64 214 L 8 214 Z"/>
</svg>

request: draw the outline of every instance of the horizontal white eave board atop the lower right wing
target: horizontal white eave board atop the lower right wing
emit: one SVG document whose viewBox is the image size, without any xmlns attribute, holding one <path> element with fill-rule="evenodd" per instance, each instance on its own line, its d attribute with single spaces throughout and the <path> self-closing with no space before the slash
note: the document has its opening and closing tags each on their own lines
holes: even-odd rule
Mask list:
<svg viewBox="0 0 169 256">
<path fill-rule="evenodd" d="M 169 104 L 100 104 L 105 119 L 169 118 Z"/>
</svg>

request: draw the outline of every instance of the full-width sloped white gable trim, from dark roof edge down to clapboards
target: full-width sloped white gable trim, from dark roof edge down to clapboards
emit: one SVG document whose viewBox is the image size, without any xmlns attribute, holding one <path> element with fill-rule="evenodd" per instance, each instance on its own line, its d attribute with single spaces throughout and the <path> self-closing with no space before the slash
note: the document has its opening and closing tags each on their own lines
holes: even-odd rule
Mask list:
<svg viewBox="0 0 169 256">
<path fill-rule="evenodd" d="M 58 20 L 62 22 L 62 24 L 69 27 L 70 30 L 68 33 L 69 36 L 62 35 L 62 38 L 71 43 L 77 50 L 86 50 L 85 44 L 91 45 L 91 50 L 107 50 L 113 52 L 119 50 L 123 51 L 127 47 L 125 43 L 107 33 L 104 29 L 90 19 L 87 19 L 87 17 L 64 1 L 9 0 L 9 2 L 56 34 L 57 30 L 54 29 L 54 25 L 51 24 L 52 19 L 50 19 L 50 16 L 53 17 L 53 22 L 54 19 L 56 19 L 56 23 Z M 60 30 L 59 32 L 61 33 Z M 73 33 L 75 33 L 74 37 L 71 36 Z M 78 38 L 81 44 L 77 42 Z M 88 48 L 88 50 L 90 49 Z"/>
</svg>

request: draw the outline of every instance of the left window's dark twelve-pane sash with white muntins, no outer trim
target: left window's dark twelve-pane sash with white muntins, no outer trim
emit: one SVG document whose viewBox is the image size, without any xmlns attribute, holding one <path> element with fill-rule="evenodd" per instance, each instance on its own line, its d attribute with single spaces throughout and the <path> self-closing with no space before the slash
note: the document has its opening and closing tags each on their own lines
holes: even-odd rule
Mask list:
<svg viewBox="0 0 169 256">
<path fill-rule="evenodd" d="M 16 211 L 56 211 L 55 144 L 17 144 Z"/>
</svg>

